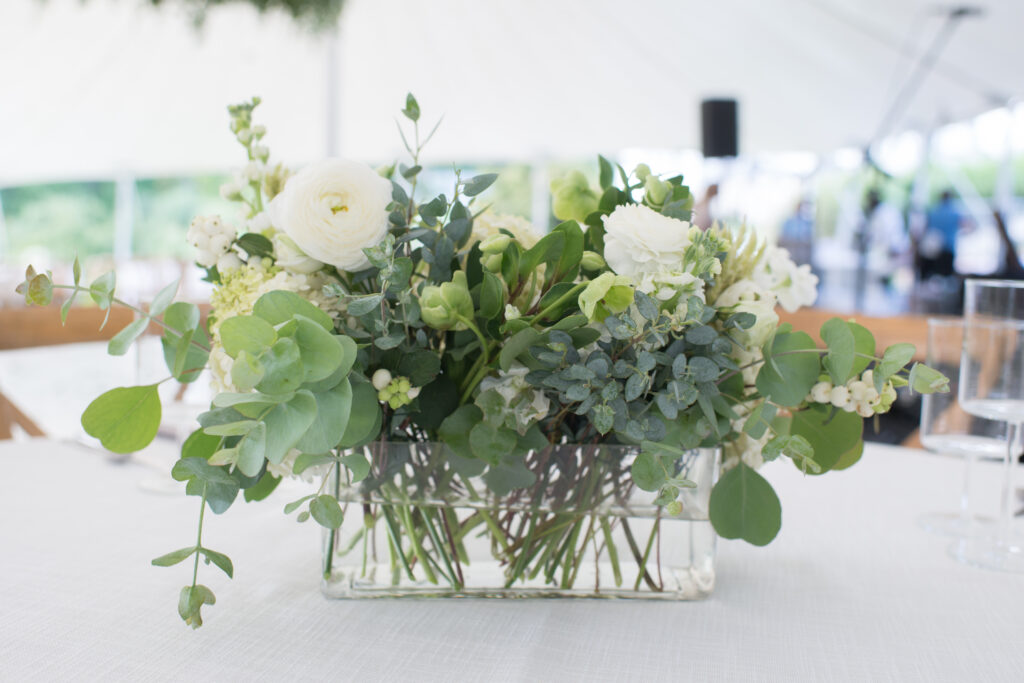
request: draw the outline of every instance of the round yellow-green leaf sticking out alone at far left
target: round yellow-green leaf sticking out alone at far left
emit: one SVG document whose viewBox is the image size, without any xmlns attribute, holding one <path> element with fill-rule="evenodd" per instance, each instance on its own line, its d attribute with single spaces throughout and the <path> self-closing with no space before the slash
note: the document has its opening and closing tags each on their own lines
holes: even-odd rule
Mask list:
<svg viewBox="0 0 1024 683">
<path fill-rule="evenodd" d="M 156 384 L 119 387 L 100 394 L 82 414 L 82 427 L 114 453 L 134 453 L 150 445 L 160 427 Z"/>
</svg>

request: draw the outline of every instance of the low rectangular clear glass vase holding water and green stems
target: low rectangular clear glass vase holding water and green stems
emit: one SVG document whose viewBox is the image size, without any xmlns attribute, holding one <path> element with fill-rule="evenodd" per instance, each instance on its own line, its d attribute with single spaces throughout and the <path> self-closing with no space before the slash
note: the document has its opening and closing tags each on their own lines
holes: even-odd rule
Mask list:
<svg viewBox="0 0 1024 683">
<path fill-rule="evenodd" d="M 691 600 L 714 589 L 717 449 L 663 459 L 695 484 L 680 488 L 681 510 L 633 483 L 631 446 L 555 445 L 489 471 L 442 443 L 357 452 L 367 478 L 346 484 L 338 468 L 329 482 L 345 513 L 325 533 L 329 597 Z"/>
</svg>

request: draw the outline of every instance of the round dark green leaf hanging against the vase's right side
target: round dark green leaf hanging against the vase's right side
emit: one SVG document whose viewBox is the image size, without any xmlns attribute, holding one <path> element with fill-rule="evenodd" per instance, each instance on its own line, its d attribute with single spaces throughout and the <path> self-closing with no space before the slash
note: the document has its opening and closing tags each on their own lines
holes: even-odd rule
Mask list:
<svg viewBox="0 0 1024 683">
<path fill-rule="evenodd" d="M 711 523 L 723 539 L 767 546 L 782 527 L 782 507 L 768 481 L 744 463 L 722 475 L 711 492 Z"/>
</svg>

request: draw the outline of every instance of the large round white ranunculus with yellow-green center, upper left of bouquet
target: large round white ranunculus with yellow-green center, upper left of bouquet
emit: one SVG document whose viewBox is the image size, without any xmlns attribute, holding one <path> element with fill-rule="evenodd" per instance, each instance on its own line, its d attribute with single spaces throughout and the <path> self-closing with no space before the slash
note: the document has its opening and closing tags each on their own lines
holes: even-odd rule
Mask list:
<svg viewBox="0 0 1024 683">
<path fill-rule="evenodd" d="M 307 166 L 270 203 L 274 227 L 308 256 L 339 270 L 370 265 L 362 249 L 387 234 L 391 183 L 366 164 L 329 159 Z"/>
</svg>

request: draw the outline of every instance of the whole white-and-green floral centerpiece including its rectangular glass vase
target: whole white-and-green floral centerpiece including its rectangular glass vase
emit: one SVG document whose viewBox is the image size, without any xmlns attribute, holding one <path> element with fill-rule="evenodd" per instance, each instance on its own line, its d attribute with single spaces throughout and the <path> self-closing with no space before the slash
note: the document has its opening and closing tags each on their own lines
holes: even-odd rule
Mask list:
<svg viewBox="0 0 1024 683">
<path fill-rule="evenodd" d="M 563 222 L 539 234 L 480 205 L 494 174 L 455 171 L 451 195 L 417 199 L 433 131 L 421 138 L 412 95 L 411 159 L 381 170 L 271 165 L 258 103 L 229 109 L 248 164 L 222 193 L 243 221 L 188 229 L 214 284 L 207 322 L 172 285 L 110 342 L 124 353 L 159 324 L 170 377 L 209 369 L 217 390 L 172 471 L 201 499 L 198 540 L 154 560 L 191 559 L 178 609 L 193 627 L 214 602 L 200 558 L 233 572 L 203 545 L 206 509 L 289 476 L 316 486 L 286 512 L 327 529 L 332 594 L 705 594 L 712 525 L 756 545 L 778 532 L 762 464 L 849 467 L 896 387 L 945 390 L 912 346 L 879 353 L 856 323 L 825 323 L 820 347 L 779 325 L 816 278 L 745 226 L 691 225 L 681 176 L 599 158 L 599 186 L 553 183 Z M 74 272 L 61 286 L 30 268 L 20 291 L 70 290 L 62 316 L 78 294 L 123 303 L 114 273 Z M 157 389 L 113 389 L 82 424 L 142 449 Z"/>
</svg>

